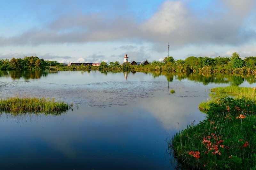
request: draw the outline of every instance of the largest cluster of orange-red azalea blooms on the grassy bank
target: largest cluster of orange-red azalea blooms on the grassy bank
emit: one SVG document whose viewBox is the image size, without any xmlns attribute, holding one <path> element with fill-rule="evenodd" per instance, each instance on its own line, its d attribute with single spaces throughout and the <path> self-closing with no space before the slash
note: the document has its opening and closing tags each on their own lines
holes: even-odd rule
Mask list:
<svg viewBox="0 0 256 170">
<path fill-rule="evenodd" d="M 212 143 L 210 141 L 211 139 L 211 136 L 212 138 L 214 139 L 214 143 Z M 205 151 L 204 153 L 205 154 L 208 154 L 208 152 L 212 151 L 212 154 L 213 155 L 216 155 L 216 154 L 221 154 L 221 152 L 219 151 L 219 147 L 226 147 L 225 145 L 220 145 L 221 143 L 224 142 L 224 140 L 221 140 L 221 137 L 219 136 L 219 138 L 215 135 L 215 133 L 211 133 L 211 136 L 207 136 L 206 138 L 204 138 L 203 140 L 203 144 L 205 145 L 205 148 L 208 149 L 207 151 Z M 220 146 L 219 146 L 220 145 Z"/>
</svg>

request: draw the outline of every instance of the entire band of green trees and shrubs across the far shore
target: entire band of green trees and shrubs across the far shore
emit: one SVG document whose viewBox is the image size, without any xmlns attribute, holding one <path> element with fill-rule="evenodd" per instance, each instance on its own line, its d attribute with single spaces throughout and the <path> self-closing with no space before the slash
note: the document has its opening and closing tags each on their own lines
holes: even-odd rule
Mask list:
<svg viewBox="0 0 256 170">
<path fill-rule="evenodd" d="M 0 60 L 0 69 L 18 70 L 46 68 L 47 66 L 58 66 L 58 70 L 122 70 L 122 71 L 168 71 L 177 73 L 228 73 L 228 74 L 256 74 L 256 57 L 245 57 L 241 59 L 238 53 L 232 53 L 231 57 L 194 57 L 185 60 L 174 60 L 172 56 L 165 57 L 163 61 L 154 60 L 148 65 L 120 65 L 118 61 L 108 63 L 102 61 L 100 66 L 71 66 L 60 67 L 57 61 L 39 59 L 38 57 L 24 57 L 24 59 Z"/>
</svg>

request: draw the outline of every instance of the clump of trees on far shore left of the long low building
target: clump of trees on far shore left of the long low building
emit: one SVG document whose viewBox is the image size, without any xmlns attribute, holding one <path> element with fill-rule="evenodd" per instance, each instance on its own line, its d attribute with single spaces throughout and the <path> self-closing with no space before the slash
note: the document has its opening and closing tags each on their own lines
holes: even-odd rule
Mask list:
<svg viewBox="0 0 256 170">
<path fill-rule="evenodd" d="M 57 61 L 49 61 L 39 59 L 37 56 L 25 56 L 23 59 L 12 58 L 0 59 L 1 70 L 22 70 L 22 69 L 44 69 L 47 66 L 60 66 L 61 64 Z"/>
</svg>

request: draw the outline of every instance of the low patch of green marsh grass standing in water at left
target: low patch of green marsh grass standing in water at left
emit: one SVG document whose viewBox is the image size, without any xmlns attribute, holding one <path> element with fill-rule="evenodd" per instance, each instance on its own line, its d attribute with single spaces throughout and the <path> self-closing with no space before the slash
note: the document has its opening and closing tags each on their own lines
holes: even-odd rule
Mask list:
<svg viewBox="0 0 256 170">
<path fill-rule="evenodd" d="M 35 97 L 8 97 L 0 100 L 0 111 L 11 113 L 59 113 L 66 110 L 73 110 L 73 103 L 55 101 L 54 98 L 35 98 Z"/>
</svg>

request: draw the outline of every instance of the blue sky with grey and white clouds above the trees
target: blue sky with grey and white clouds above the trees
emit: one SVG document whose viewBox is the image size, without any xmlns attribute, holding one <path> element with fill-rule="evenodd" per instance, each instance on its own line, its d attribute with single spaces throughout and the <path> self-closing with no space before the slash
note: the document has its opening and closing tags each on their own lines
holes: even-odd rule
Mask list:
<svg viewBox="0 0 256 170">
<path fill-rule="evenodd" d="M 256 56 L 255 0 L 0 0 L 0 59 Z"/>
</svg>

